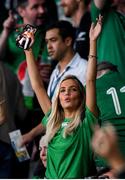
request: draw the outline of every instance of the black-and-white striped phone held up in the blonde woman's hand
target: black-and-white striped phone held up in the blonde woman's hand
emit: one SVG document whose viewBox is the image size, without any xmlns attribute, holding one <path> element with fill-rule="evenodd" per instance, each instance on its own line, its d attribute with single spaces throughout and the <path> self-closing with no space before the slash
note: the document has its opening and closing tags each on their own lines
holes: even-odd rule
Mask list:
<svg viewBox="0 0 125 180">
<path fill-rule="evenodd" d="M 16 45 L 19 47 L 19 48 L 22 48 L 24 50 L 28 50 L 33 42 L 32 42 L 32 39 L 31 39 L 31 33 L 35 34 L 37 31 L 37 28 L 30 25 L 30 24 L 27 24 L 24 28 L 23 28 L 23 31 L 17 36 L 16 38 Z"/>
</svg>

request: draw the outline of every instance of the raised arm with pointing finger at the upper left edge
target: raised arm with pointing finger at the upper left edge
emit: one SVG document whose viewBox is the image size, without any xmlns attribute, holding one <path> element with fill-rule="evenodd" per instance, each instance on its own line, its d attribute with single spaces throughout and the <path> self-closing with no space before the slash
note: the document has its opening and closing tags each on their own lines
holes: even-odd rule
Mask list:
<svg viewBox="0 0 125 180">
<path fill-rule="evenodd" d="M 12 12 L 9 12 L 9 17 L 3 23 L 3 31 L 0 35 L 0 58 L 5 56 L 7 39 L 11 30 L 15 27 L 15 19 Z"/>
</svg>

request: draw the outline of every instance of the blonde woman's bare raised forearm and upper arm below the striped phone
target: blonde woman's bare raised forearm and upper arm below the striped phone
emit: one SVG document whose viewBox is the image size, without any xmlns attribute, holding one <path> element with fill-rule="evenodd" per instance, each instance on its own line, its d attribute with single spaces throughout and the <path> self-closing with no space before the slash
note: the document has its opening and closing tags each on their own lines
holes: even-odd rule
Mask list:
<svg viewBox="0 0 125 180">
<path fill-rule="evenodd" d="M 51 101 L 46 93 L 42 78 L 37 69 L 32 49 L 25 51 L 28 73 L 31 81 L 31 85 L 37 96 L 38 102 L 46 114 L 51 108 Z"/>
</svg>

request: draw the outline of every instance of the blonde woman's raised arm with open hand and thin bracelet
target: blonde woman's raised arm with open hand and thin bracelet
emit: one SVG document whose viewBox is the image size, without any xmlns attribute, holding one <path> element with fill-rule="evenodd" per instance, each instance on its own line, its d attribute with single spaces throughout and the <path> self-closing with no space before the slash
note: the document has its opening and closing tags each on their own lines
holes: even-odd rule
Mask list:
<svg viewBox="0 0 125 180">
<path fill-rule="evenodd" d="M 99 16 L 96 26 L 92 24 L 90 28 L 90 51 L 86 76 L 86 106 L 95 116 L 98 116 L 96 105 L 96 41 L 101 32 L 101 24 L 102 16 Z"/>
</svg>

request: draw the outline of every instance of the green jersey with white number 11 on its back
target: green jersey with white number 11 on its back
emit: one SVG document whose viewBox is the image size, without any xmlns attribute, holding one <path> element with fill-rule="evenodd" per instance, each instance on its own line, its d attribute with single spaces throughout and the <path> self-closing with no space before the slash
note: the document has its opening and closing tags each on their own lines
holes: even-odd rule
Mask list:
<svg viewBox="0 0 125 180">
<path fill-rule="evenodd" d="M 101 125 L 110 122 L 115 126 L 125 156 L 125 80 L 109 71 L 96 80 L 96 89 Z"/>
</svg>

